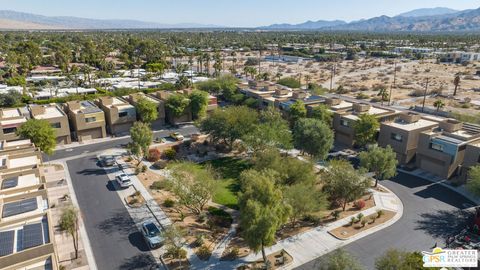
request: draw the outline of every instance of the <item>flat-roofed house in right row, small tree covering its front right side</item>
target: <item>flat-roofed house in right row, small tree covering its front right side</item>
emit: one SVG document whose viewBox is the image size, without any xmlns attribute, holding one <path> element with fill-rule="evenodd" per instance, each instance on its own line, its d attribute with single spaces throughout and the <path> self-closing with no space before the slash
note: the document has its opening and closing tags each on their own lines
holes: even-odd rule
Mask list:
<svg viewBox="0 0 480 270">
<path fill-rule="evenodd" d="M 342 104 L 342 103 L 341 103 Z M 333 129 L 335 130 L 335 140 L 346 146 L 355 144 L 355 122 L 362 114 L 375 116 L 379 122 L 394 119 L 398 111 L 374 107 L 370 104 L 353 103 L 345 104 L 345 108 L 337 108 L 340 104 L 330 106 L 330 108 L 339 109 L 333 114 Z"/>
</svg>

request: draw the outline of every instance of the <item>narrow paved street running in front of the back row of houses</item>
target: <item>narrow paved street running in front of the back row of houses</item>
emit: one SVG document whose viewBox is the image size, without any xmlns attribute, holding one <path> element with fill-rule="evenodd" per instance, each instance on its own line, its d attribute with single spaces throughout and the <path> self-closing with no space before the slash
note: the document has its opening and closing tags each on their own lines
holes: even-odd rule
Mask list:
<svg viewBox="0 0 480 270">
<path fill-rule="evenodd" d="M 177 129 L 171 128 L 171 129 L 155 131 L 154 137 L 155 138 L 168 137 L 172 132 L 180 132 L 181 134 L 187 136 L 193 133 L 198 133 L 198 129 L 193 125 L 186 125 Z M 122 146 L 125 146 L 128 142 L 130 142 L 130 137 L 125 137 L 121 139 L 112 138 L 112 140 L 104 141 L 101 143 L 91 143 L 91 144 L 85 144 L 85 145 L 81 145 L 74 148 L 59 149 L 59 150 L 56 150 L 52 156 L 44 155 L 44 160 L 48 162 L 56 159 L 74 157 L 84 153 L 91 153 L 91 152 L 106 150 L 110 148 L 121 148 Z"/>
</svg>

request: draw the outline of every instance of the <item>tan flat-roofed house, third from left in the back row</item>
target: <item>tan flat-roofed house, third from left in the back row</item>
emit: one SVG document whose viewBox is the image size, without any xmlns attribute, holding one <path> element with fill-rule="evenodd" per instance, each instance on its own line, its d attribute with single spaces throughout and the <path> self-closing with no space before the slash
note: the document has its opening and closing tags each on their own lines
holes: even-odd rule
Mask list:
<svg viewBox="0 0 480 270">
<path fill-rule="evenodd" d="M 107 136 L 105 114 L 93 102 L 70 101 L 65 106 L 73 137 L 79 142 Z"/>
</svg>

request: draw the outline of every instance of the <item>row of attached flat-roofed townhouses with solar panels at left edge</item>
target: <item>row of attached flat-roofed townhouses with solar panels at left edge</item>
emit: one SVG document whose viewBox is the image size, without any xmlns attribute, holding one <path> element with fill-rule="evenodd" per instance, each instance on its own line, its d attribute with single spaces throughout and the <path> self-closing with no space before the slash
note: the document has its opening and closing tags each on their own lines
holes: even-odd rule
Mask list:
<svg viewBox="0 0 480 270">
<path fill-rule="evenodd" d="M 0 147 L 0 267 L 58 269 L 41 155 L 27 141 Z"/>
</svg>

